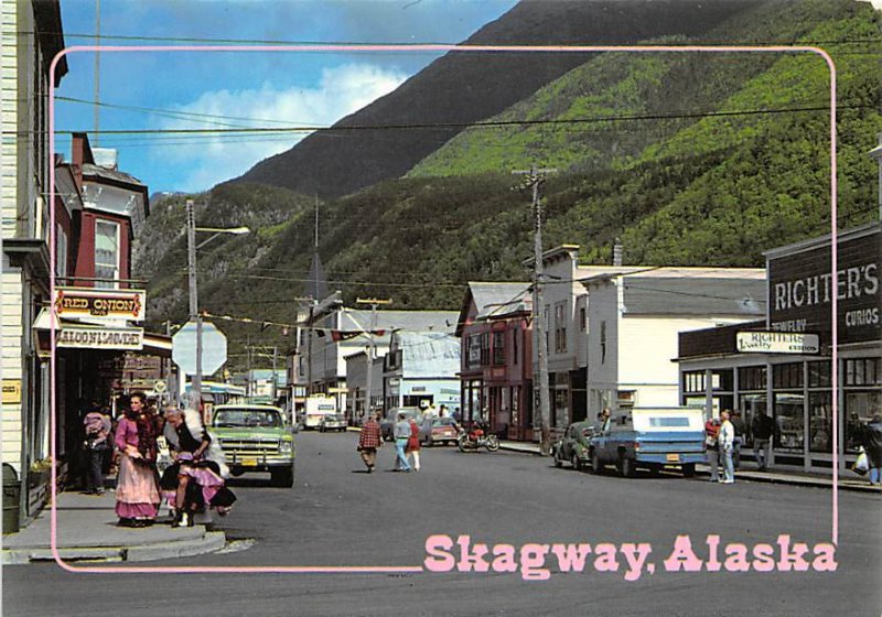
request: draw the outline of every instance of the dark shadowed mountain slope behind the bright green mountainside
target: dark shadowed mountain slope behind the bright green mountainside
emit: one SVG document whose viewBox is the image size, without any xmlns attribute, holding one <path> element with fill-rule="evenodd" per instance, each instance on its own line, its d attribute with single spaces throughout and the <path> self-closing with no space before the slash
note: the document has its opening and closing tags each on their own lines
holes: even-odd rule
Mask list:
<svg viewBox="0 0 882 617">
<path fill-rule="evenodd" d="M 464 44 L 626 45 L 675 34 L 700 40 L 727 20 L 762 3 L 529 0 L 482 28 Z M 315 132 L 291 150 L 261 161 L 238 180 L 333 198 L 399 177 L 464 126 L 499 113 L 583 64 L 587 57 L 576 53 L 449 53 L 394 93 L 336 122 L 331 130 Z M 412 125 L 420 128 L 390 128 Z"/>
</svg>

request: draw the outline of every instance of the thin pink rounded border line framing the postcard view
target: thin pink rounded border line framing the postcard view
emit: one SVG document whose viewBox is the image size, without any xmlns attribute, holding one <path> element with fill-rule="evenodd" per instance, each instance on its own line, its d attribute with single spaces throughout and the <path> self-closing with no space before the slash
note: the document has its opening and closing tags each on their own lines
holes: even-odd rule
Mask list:
<svg viewBox="0 0 882 617">
<path fill-rule="evenodd" d="M 646 45 L 646 46 L 615 46 L 615 45 L 576 45 L 576 46 L 528 46 L 528 45 L 184 45 L 184 46 L 168 46 L 168 45 L 136 45 L 136 46 L 118 46 L 118 45 L 82 45 L 65 47 L 58 52 L 52 61 L 50 66 L 50 93 L 49 93 L 49 131 L 50 131 L 50 148 L 49 155 L 52 158 L 55 152 L 55 72 L 61 58 L 67 54 L 80 52 L 299 52 L 299 53 L 315 53 L 315 52 L 485 52 L 485 53 L 506 53 L 506 52 L 539 52 L 539 53 L 560 53 L 560 52 L 631 52 L 631 53 L 813 53 L 821 56 L 830 71 L 830 250 L 831 250 L 831 275 L 836 280 L 836 272 L 838 270 L 837 261 L 837 247 L 838 247 L 838 229 L 837 229 L 837 158 L 836 158 L 836 65 L 833 64 L 830 55 L 820 47 L 814 46 L 786 46 L 786 45 L 771 45 L 771 46 L 750 46 L 750 45 L 734 45 L 734 46 L 700 46 L 700 45 Z M 50 161 L 51 163 L 51 161 Z M 50 294 L 55 294 L 55 166 L 50 167 Z M 832 368 L 831 380 L 835 389 L 839 385 L 839 355 L 838 355 L 838 299 L 837 294 L 832 294 L 831 302 L 831 326 L 832 326 Z M 54 311 L 52 312 L 53 318 L 50 320 L 50 340 L 51 340 L 51 358 L 50 358 L 50 451 L 52 458 L 55 459 L 56 444 L 55 444 L 55 318 Z M 833 479 L 832 479 L 832 543 L 838 544 L 839 541 L 839 397 L 832 397 L 832 413 L 833 430 L 832 430 L 832 464 L 833 464 Z M 55 488 L 56 469 L 52 467 L 52 506 L 51 506 L 51 546 L 52 555 L 62 569 L 68 572 L 83 572 L 83 573 L 122 573 L 122 572 L 160 572 L 160 573 L 292 573 L 292 574 L 334 574 L 334 573 L 383 573 L 383 574 L 400 574 L 400 573 L 415 573 L 423 572 L 422 565 L 417 566 L 172 566 L 172 567 L 153 567 L 153 566 L 131 566 L 131 567 L 77 567 L 67 564 L 58 554 L 57 548 L 57 494 Z"/>
</svg>

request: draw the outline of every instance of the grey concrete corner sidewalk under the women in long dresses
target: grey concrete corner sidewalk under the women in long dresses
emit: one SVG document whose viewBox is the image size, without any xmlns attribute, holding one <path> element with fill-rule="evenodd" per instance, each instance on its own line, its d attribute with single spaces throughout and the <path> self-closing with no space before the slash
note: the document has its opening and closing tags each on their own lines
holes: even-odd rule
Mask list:
<svg viewBox="0 0 882 617">
<path fill-rule="evenodd" d="M 223 531 L 208 531 L 204 524 L 172 528 L 164 516 L 165 507 L 152 527 L 117 527 L 114 506 L 114 494 L 109 490 L 101 497 L 58 495 L 56 541 L 64 561 L 153 561 L 209 553 L 226 544 Z M 53 561 L 51 517 L 51 508 L 46 506 L 25 529 L 3 535 L 3 565 Z M 205 520 L 209 521 L 209 517 Z"/>
</svg>

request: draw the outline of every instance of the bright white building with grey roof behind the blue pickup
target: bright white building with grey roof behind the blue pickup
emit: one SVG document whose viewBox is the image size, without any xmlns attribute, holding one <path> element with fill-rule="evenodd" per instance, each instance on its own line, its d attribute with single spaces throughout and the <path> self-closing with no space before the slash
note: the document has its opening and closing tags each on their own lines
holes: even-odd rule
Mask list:
<svg viewBox="0 0 882 617">
<path fill-rule="evenodd" d="M 591 277 L 588 414 L 604 408 L 679 404 L 678 334 L 762 317 L 765 271 L 628 268 Z"/>
</svg>

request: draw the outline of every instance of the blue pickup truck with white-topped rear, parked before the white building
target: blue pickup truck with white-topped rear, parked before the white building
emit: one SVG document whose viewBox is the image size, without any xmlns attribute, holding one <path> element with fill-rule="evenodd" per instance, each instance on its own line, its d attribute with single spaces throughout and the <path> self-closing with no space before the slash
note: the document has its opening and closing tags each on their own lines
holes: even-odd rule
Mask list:
<svg viewBox="0 0 882 617">
<path fill-rule="evenodd" d="M 637 468 L 658 472 L 676 466 L 684 476 L 691 477 L 696 463 L 704 462 L 703 410 L 620 410 L 591 439 L 589 456 L 596 474 L 606 465 L 615 465 L 624 477 L 632 477 Z"/>
</svg>

